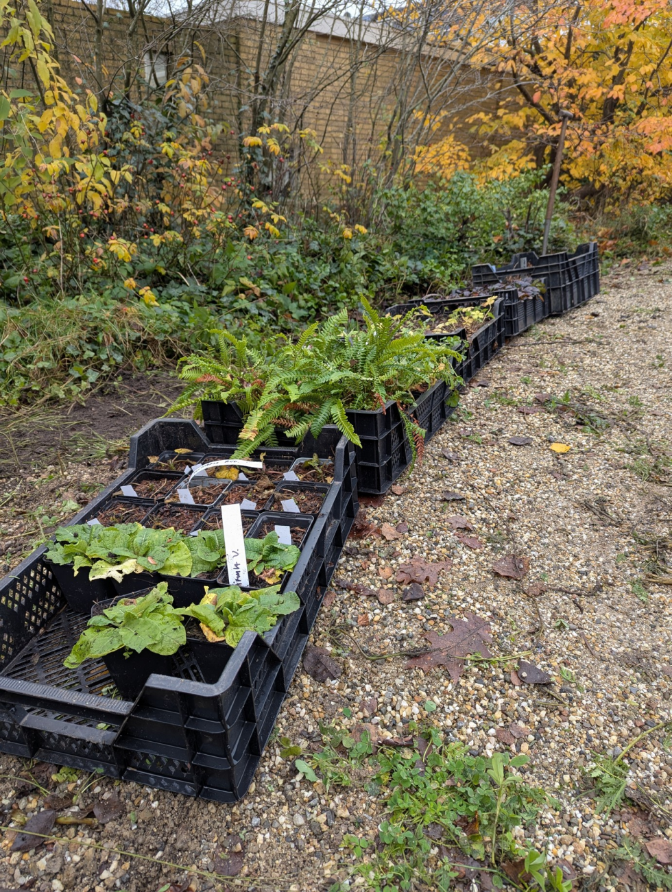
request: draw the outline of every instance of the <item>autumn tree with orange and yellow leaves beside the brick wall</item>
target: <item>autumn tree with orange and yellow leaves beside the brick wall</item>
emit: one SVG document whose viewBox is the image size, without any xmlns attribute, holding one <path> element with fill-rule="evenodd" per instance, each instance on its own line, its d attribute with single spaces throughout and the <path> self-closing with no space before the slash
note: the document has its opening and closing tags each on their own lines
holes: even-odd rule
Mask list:
<svg viewBox="0 0 672 892">
<path fill-rule="evenodd" d="M 479 61 L 502 75 L 497 115 L 480 114 L 488 166 L 551 161 L 571 111 L 562 179 L 596 210 L 672 194 L 672 8 L 667 0 L 520 4 Z"/>
</svg>

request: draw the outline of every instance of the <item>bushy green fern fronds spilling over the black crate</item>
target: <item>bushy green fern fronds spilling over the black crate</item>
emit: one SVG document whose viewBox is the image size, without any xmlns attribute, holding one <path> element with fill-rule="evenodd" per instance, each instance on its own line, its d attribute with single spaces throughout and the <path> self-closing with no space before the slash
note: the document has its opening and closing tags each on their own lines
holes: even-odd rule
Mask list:
<svg viewBox="0 0 672 892">
<path fill-rule="evenodd" d="M 218 332 L 218 356 L 183 360 L 179 376 L 187 387 L 169 414 L 203 399 L 236 402 L 245 425 L 235 457 L 245 458 L 261 445 L 275 445 L 278 428 L 301 442 L 334 424 L 361 446 L 347 411 L 386 411 L 392 401 L 402 411 L 415 458 L 425 432 L 411 410 L 419 392 L 436 381 L 459 383 L 452 360 L 460 359 L 460 341 L 426 341 L 422 328 L 409 330 L 412 311 L 391 318 L 364 298 L 362 304 L 363 326 L 353 327 L 341 310 L 306 328 L 295 343 L 278 343 L 268 357 L 251 350 L 245 337 Z"/>
</svg>

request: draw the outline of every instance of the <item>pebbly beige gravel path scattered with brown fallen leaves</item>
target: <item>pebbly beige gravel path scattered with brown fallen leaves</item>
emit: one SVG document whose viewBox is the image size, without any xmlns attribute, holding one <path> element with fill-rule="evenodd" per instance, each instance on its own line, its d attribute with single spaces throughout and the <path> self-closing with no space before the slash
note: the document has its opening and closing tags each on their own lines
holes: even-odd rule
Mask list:
<svg viewBox="0 0 672 892">
<path fill-rule="evenodd" d="M 220 855 L 236 847 L 237 835 L 243 869 L 230 888 L 327 889 L 352 863 L 339 851 L 344 833 L 374 838 L 381 814 L 361 779 L 328 792 L 296 780 L 292 759 L 280 756 L 280 738 L 310 752 L 319 723 L 366 722 L 386 737 L 402 736 L 419 720 L 473 753 L 528 753 L 526 780 L 560 800 L 560 811 L 543 812 L 536 847 L 571 864 L 582 888 L 616 888 L 614 851 L 624 834 L 643 833 L 644 819 L 632 808 L 596 814 L 585 769 L 593 752 L 618 756 L 672 712 L 672 587 L 651 582 L 672 575 L 669 277 L 672 266 L 612 275 L 584 308 L 510 343 L 469 387 L 422 466 L 400 482 L 401 494 L 364 508 L 374 534 L 348 542 L 312 639 L 332 651 L 343 674 L 318 682 L 297 673 L 243 802 L 215 805 L 94 780 L 82 805 L 116 789 L 120 817 L 102 828 L 59 832 L 93 838 L 103 849 L 73 841 L 8 855 L 5 842 L 0 884 L 153 892 L 172 882 L 177 890 L 186 874 L 161 861 L 220 870 Z M 514 445 L 511 437 L 529 442 Z M 558 453 L 552 443 L 570 449 Z M 90 476 L 66 470 L 73 481 Z M 115 472 L 104 474 L 112 479 Z M 473 529 L 460 529 L 465 523 Z M 383 535 L 382 524 L 389 524 Z M 494 574 L 494 564 L 509 556 L 518 566 L 529 562 L 521 580 Z M 418 557 L 452 565 L 435 586 L 423 585 L 421 599 L 407 602 L 397 574 Z M 490 624 L 498 661 L 472 663 L 458 681 L 442 667 L 425 673 L 406 668 L 406 657 L 374 661 L 362 653 L 426 647 L 425 633 L 449 632 L 452 617 L 468 612 Z M 521 653 L 550 673 L 550 685 L 511 674 L 518 658 L 510 655 Z M 672 806 L 669 736 L 644 736 L 628 758 L 633 797 Z M 23 764 L 0 756 L 0 766 L 16 775 Z M 12 804 L 31 813 L 42 801 L 2 780 L 5 823 Z M 656 814 L 660 809 L 646 819 L 649 837 L 672 839 L 669 821 Z M 196 877 L 188 888 L 227 887 Z"/>
</svg>

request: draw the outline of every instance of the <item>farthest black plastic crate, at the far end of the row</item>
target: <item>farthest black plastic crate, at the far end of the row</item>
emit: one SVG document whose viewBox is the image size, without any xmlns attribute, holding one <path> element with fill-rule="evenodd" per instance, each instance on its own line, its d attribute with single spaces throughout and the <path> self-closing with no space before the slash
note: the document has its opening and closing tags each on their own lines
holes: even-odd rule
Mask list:
<svg viewBox="0 0 672 892">
<path fill-rule="evenodd" d="M 573 254 L 563 251 L 537 257 L 535 252 L 521 252 L 514 254 L 510 263 L 499 268 L 489 263 L 471 268 L 474 285 L 477 286 L 494 285 L 516 273 L 545 279 L 549 313 L 560 316 L 599 293 L 600 258 L 597 244 L 579 244 Z"/>
</svg>

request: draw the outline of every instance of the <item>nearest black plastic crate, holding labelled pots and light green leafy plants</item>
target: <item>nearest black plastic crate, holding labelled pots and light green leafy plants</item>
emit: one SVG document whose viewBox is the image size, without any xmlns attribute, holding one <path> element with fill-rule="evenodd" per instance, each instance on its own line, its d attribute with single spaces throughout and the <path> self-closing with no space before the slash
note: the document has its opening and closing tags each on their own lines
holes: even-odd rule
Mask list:
<svg viewBox="0 0 672 892">
<path fill-rule="evenodd" d="M 131 439 L 129 471 L 73 522 L 176 448 L 205 455 L 213 444 L 194 422 L 145 425 Z M 233 450 L 214 451 L 228 458 Z M 264 451 L 298 457 L 296 450 Z M 64 608 L 46 549 L 0 582 L 0 750 L 222 802 L 243 797 L 359 507 L 352 445 L 334 428 L 312 451 L 334 458 L 334 483 L 287 582 L 302 607 L 263 637 L 245 632 L 216 683 L 200 681 L 186 652 L 177 676 L 151 675 L 134 703 L 112 698 L 102 660 L 77 670 L 62 665 L 87 616 Z"/>
</svg>

